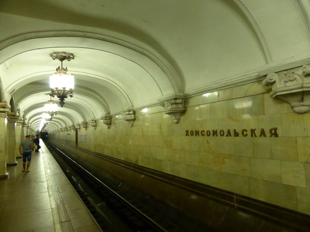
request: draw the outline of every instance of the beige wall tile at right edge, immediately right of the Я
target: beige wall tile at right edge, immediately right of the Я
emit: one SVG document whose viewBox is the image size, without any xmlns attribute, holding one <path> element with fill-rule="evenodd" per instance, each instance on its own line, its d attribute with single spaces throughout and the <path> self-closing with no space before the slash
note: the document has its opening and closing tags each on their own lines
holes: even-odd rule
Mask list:
<svg viewBox="0 0 310 232">
<path fill-rule="evenodd" d="M 284 137 L 309 137 L 310 114 L 282 114 L 282 129 Z"/>
</svg>

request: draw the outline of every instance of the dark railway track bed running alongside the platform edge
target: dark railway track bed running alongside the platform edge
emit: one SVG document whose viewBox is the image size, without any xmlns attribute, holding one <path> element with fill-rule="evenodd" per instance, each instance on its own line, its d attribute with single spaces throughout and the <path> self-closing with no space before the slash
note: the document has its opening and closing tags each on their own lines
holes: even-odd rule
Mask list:
<svg viewBox="0 0 310 232">
<path fill-rule="evenodd" d="M 49 142 L 44 142 L 104 232 L 185 231 L 118 186 L 86 170 Z"/>
</svg>

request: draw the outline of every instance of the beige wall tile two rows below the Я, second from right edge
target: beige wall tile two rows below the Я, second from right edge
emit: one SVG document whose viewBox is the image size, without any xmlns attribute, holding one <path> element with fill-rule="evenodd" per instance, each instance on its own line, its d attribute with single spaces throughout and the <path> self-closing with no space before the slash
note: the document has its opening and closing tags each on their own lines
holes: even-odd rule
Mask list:
<svg viewBox="0 0 310 232">
<path fill-rule="evenodd" d="M 282 184 L 306 187 L 304 163 L 281 160 Z"/>
</svg>

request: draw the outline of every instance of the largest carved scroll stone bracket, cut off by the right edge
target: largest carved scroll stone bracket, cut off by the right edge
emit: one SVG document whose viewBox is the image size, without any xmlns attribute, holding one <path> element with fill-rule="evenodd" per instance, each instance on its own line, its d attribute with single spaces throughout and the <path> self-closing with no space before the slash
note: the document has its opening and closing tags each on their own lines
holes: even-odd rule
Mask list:
<svg viewBox="0 0 310 232">
<path fill-rule="evenodd" d="M 270 95 L 290 103 L 295 113 L 304 114 L 310 110 L 310 64 L 269 73 L 263 85 L 271 85 Z"/>
</svg>

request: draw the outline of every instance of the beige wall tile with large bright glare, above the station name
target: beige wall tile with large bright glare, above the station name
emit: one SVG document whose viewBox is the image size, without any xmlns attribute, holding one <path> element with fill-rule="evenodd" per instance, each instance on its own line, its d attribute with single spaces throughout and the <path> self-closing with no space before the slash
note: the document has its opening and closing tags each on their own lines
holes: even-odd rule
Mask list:
<svg viewBox="0 0 310 232">
<path fill-rule="evenodd" d="M 264 114 L 263 95 L 228 100 L 228 117 L 247 117 Z"/>
</svg>

